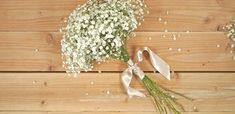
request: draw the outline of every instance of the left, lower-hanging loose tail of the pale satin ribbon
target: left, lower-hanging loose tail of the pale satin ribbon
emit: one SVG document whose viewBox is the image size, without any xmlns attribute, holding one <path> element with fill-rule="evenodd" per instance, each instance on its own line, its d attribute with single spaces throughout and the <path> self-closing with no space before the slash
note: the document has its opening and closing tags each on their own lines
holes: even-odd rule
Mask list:
<svg viewBox="0 0 235 114">
<path fill-rule="evenodd" d="M 126 92 L 129 96 L 137 96 L 137 97 L 145 97 L 143 93 L 140 91 L 133 89 L 130 87 L 130 83 L 133 77 L 133 72 L 131 68 L 127 68 L 123 73 L 122 73 L 122 84 L 124 88 L 126 89 Z"/>
</svg>

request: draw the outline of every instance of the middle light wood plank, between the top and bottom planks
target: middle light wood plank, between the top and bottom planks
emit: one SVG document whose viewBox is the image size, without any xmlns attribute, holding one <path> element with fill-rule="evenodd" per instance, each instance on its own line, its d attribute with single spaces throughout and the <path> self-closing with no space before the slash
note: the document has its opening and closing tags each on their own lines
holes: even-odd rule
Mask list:
<svg viewBox="0 0 235 114">
<path fill-rule="evenodd" d="M 162 37 L 164 34 L 166 38 Z M 174 41 L 172 34 L 180 37 Z M 0 71 L 63 71 L 60 40 L 61 34 L 53 32 L 1 32 Z M 149 46 L 176 71 L 235 71 L 228 44 L 223 33 L 138 32 L 128 42 L 128 50 L 134 57 L 138 48 Z M 153 71 L 146 59 L 141 68 Z M 123 71 L 124 68 L 125 64 L 110 61 L 96 65 L 95 70 Z"/>
</svg>

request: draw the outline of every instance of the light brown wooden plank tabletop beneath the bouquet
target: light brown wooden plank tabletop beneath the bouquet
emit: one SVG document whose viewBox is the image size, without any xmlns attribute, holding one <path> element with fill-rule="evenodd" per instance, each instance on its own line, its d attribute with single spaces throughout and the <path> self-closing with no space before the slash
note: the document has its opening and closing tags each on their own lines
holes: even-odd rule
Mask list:
<svg viewBox="0 0 235 114">
<path fill-rule="evenodd" d="M 176 76 L 163 79 L 146 60 L 141 67 L 161 85 L 195 99 L 179 98 L 184 113 L 234 114 L 235 61 L 219 29 L 235 16 L 235 1 L 146 1 L 150 14 L 129 41 L 129 51 L 134 55 L 138 47 L 149 46 Z M 95 72 L 78 78 L 65 74 L 58 31 L 84 2 L 0 0 L 0 114 L 156 113 L 150 97 L 128 98 L 120 82 L 126 66 L 118 61 L 96 65 Z M 180 37 L 174 41 L 173 34 Z M 137 79 L 132 86 L 147 93 Z"/>
</svg>

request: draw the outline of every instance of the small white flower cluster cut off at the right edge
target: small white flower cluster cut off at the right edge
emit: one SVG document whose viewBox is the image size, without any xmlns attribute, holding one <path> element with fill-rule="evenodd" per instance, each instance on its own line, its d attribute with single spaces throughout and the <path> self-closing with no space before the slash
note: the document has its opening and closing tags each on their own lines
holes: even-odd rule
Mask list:
<svg viewBox="0 0 235 114">
<path fill-rule="evenodd" d="M 233 53 L 233 58 L 235 60 L 235 20 L 233 20 L 230 24 L 226 25 L 224 30 L 227 31 L 227 36 L 231 39 L 232 45 L 231 45 L 231 53 Z"/>
</svg>

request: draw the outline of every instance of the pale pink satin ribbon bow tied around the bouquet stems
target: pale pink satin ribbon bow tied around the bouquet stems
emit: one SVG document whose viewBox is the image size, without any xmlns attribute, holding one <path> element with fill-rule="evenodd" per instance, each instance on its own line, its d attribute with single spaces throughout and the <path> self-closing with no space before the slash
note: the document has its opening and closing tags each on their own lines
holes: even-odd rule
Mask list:
<svg viewBox="0 0 235 114">
<path fill-rule="evenodd" d="M 170 80 L 170 76 L 171 76 L 170 66 L 163 59 L 161 59 L 157 54 L 155 54 L 152 50 L 150 50 L 148 47 L 141 48 L 137 51 L 137 54 L 136 54 L 137 63 L 134 63 L 130 59 L 127 62 L 128 68 L 125 71 L 123 71 L 121 75 L 123 86 L 126 89 L 127 94 L 129 96 L 145 97 L 145 95 L 142 92 L 130 87 L 133 74 L 138 76 L 141 80 L 143 80 L 145 77 L 144 72 L 140 69 L 140 67 L 137 66 L 138 62 L 143 61 L 144 51 L 148 52 L 149 58 L 153 67 L 158 72 L 160 72 L 166 79 Z"/>
</svg>

